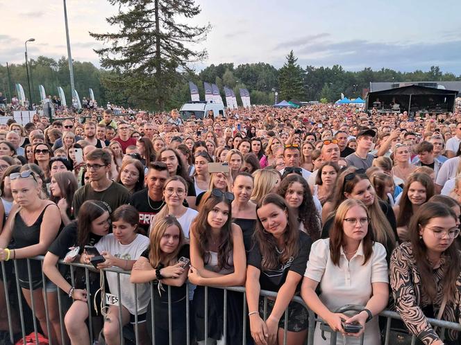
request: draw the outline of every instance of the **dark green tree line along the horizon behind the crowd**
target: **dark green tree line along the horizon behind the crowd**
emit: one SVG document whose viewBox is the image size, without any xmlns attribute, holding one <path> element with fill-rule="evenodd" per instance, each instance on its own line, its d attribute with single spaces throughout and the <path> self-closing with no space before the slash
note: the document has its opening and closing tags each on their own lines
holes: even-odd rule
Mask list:
<svg viewBox="0 0 461 345">
<path fill-rule="evenodd" d="M 32 98 L 37 103 L 40 100 L 38 85 L 44 85 L 47 95 L 57 95 L 57 87 L 65 91 L 67 104 L 70 103 L 69 67 L 67 59 L 61 57 L 54 60 L 50 57 L 39 56 L 29 61 L 32 82 Z M 0 91 L 10 99 L 11 94 L 16 94 L 15 84 L 24 87 L 28 98 L 27 76 L 25 64 L 10 64 L 10 81 L 6 65 L 0 64 Z M 154 98 L 145 98 L 149 90 L 140 94 L 133 88 L 126 87 L 124 73 L 117 69 L 97 68 L 91 62 L 74 61 L 74 78 L 76 90 L 81 97 L 89 97 L 89 88 L 94 91 L 94 96 L 100 105 L 115 103 L 126 107 L 141 107 L 143 109 L 159 109 Z M 153 77 L 155 78 L 155 76 Z M 224 99 L 224 85 L 233 88 L 240 104 L 240 88 L 250 91 L 252 104 L 274 104 L 274 90 L 278 91 L 278 100 L 320 100 L 325 98 L 333 102 L 340 98 L 341 93 L 355 98 L 362 96 L 362 89 L 369 87 L 369 82 L 418 82 L 418 81 L 455 81 L 461 76 L 453 73 L 442 73 L 439 67 L 430 67 L 429 71 L 416 70 L 413 72 L 400 72 L 392 69 L 373 70 L 369 67 L 362 71 L 346 71 L 340 65 L 333 67 L 305 68 L 299 66 L 293 52 L 287 55 L 283 67 L 276 67 L 265 62 L 253 64 L 233 63 L 211 64 L 202 71 L 177 71 L 174 83 L 165 87 L 165 103 L 163 109 L 181 107 L 190 100 L 188 81 L 194 82 L 199 87 L 201 99 L 204 98 L 203 82 L 212 82 L 218 85 Z M 133 82 L 133 80 L 131 80 Z M 143 96 L 144 95 L 144 96 Z"/>
</svg>

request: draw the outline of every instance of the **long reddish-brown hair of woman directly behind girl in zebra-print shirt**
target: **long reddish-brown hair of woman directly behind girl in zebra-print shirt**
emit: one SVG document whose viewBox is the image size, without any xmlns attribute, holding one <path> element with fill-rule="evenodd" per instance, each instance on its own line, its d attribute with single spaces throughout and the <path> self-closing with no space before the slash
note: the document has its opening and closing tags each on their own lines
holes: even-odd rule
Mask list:
<svg viewBox="0 0 461 345">
<path fill-rule="evenodd" d="M 426 201 L 434 195 L 434 182 L 427 174 L 417 172 L 410 175 L 405 182 L 402 197 L 400 200 L 399 215 L 397 216 L 397 227 L 405 227 L 410 223 L 413 215 L 413 207 L 410 199 L 408 198 L 408 190 L 413 182 L 419 182 L 426 188 Z"/>
</svg>

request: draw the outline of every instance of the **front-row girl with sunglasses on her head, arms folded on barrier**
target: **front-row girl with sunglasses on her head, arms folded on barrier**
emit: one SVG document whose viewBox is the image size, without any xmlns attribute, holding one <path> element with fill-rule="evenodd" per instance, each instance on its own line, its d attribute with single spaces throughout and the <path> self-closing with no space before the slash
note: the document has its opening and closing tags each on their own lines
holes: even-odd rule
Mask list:
<svg viewBox="0 0 461 345">
<path fill-rule="evenodd" d="M 217 189 L 203 197 L 200 212 L 190 231 L 190 283 L 194 292 L 196 340 L 221 340 L 227 317 L 227 343 L 242 343 L 242 294 L 228 291 L 227 315 L 224 315 L 224 290 L 210 286 L 242 285 L 245 281 L 246 256 L 242 229 L 232 223 L 232 193 Z M 205 333 L 205 286 L 208 286 L 208 334 Z M 211 338 L 211 339 L 210 339 Z"/>
</svg>

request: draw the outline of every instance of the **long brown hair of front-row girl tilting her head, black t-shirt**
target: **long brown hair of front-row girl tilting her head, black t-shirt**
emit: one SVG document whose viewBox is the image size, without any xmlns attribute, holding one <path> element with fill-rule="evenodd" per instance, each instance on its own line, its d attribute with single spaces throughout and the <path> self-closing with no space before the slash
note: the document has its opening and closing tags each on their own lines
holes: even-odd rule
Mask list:
<svg viewBox="0 0 461 345">
<path fill-rule="evenodd" d="M 280 267 L 280 264 L 283 265 L 287 263 L 290 258 L 294 258 L 299 253 L 299 223 L 296 219 L 296 215 L 294 215 L 292 209 L 288 207 L 283 197 L 280 197 L 278 194 L 270 193 L 262 197 L 256 205 L 256 211 L 267 204 L 274 204 L 279 209 L 287 211 L 287 229 L 283 233 L 283 242 L 285 243 L 283 253 L 278 255 L 276 250 L 276 238 L 264 229 L 258 216 L 253 238 L 255 239 L 255 243 L 259 246 L 262 256 L 262 270 L 276 269 Z"/>
</svg>

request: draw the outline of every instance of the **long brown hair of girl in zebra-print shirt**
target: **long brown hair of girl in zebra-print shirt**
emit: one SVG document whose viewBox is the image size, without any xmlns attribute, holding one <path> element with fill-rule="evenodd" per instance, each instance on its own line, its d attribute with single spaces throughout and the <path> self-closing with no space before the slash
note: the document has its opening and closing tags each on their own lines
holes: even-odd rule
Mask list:
<svg viewBox="0 0 461 345">
<path fill-rule="evenodd" d="M 448 206 L 440 202 L 426 202 L 426 204 L 419 207 L 408 226 L 414 260 L 421 276 L 421 288 L 433 301 L 437 294 L 437 287 L 435 286 L 433 267 L 427 258 L 428 249 L 419 236 L 419 230 L 421 227 L 426 227 L 431 219 L 439 217 L 453 217 L 456 220 L 455 213 Z M 441 283 L 444 296 L 453 301 L 455 298 L 456 281 L 461 272 L 461 260 L 456 240 L 453 240 L 450 247 L 444 251 L 444 256 L 446 256 L 446 263 L 444 264 L 444 274 Z"/>
</svg>

